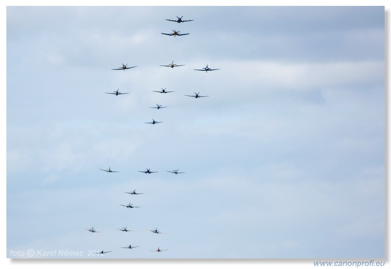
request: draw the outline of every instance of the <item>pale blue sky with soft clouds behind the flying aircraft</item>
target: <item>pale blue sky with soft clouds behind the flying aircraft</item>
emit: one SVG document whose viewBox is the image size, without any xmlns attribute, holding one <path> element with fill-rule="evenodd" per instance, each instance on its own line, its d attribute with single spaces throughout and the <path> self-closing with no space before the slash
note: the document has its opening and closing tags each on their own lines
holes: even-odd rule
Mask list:
<svg viewBox="0 0 391 269">
<path fill-rule="evenodd" d="M 384 7 L 6 12 L 7 258 L 385 257 Z"/>
</svg>

